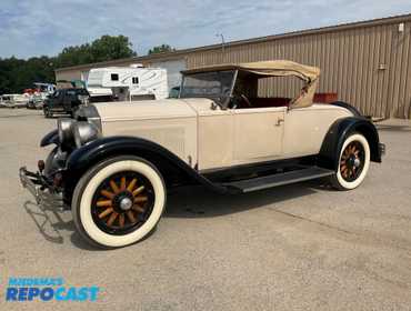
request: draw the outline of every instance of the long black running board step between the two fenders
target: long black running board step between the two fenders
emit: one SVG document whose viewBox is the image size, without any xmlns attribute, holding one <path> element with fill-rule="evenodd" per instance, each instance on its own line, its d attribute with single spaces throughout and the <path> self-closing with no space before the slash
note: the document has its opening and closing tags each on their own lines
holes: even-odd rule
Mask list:
<svg viewBox="0 0 411 311">
<path fill-rule="evenodd" d="M 235 192 L 251 192 L 267 188 L 273 188 L 283 184 L 318 179 L 332 174 L 334 174 L 334 171 L 332 170 L 321 169 L 318 167 L 309 167 L 307 169 L 300 169 L 284 173 L 275 173 L 265 177 L 258 177 L 233 182 L 224 182 L 222 183 L 222 185 Z"/>
</svg>

